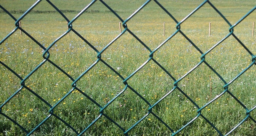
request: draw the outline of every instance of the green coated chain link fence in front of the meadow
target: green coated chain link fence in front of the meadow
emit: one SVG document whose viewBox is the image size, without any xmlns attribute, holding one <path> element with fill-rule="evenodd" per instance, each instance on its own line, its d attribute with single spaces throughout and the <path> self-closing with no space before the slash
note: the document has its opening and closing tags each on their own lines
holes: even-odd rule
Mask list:
<svg viewBox="0 0 256 136">
<path fill-rule="evenodd" d="M 72 20 L 68 20 L 68 18 L 54 5 L 51 3 L 51 1 L 46 0 L 47 3 L 49 5 L 51 5 L 56 12 L 58 12 L 64 20 L 66 20 L 68 22 L 68 30 L 63 33 L 61 36 L 59 36 L 56 40 L 54 40 L 52 42 L 52 44 L 50 44 L 47 48 L 44 47 L 44 45 L 42 45 L 42 43 L 38 42 L 33 36 L 31 36 L 26 30 L 24 30 L 23 28 L 20 27 L 19 22 L 25 18 L 30 12 L 31 10 L 36 7 L 40 2 L 42 2 L 42 0 L 38 0 L 35 4 L 33 4 L 26 12 L 24 12 L 20 18 L 16 19 L 12 13 L 10 13 L 9 11 L 7 11 L 3 6 L 0 5 L 0 8 L 6 13 L 8 14 L 14 21 L 15 21 L 15 29 L 10 32 L 6 37 L 4 37 L 4 39 L 1 40 L 0 45 L 4 46 L 3 43 L 12 35 L 14 35 L 14 33 L 18 30 L 21 30 L 23 34 L 27 35 L 31 40 L 33 40 L 38 46 L 40 46 L 40 48 L 43 50 L 43 55 L 42 55 L 42 59 L 43 61 L 40 62 L 32 71 L 30 71 L 30 73 L 28 75 L 26 75 L 24 78 L 22 78 L 15 70 L 13 70 L 12 66 L 9 66 L 8 64 L 4 63 L 3 61 L 0 61 L 2 68 L 4 67 L 5 69 L 9 70 L 9 72 L 12 72 L 17 78 L 20 79 L 20 88 L 18 90 L 16 90 L 15 93 L 11 94 L 11 96 L 5 100 L 1 106 L 0 106 L 0 114 L 1 116 L 4 116 L 4 118 L 6 118 L 8 121 L 11 121 L 13 124 L 17 125 L 22 131 L 24 131 L 26 133 L 26 135 L 31 135 L 33 134 L 35 131 L 37 131 L 38 129 L 40 129 L 40 127 L 45 124 L 45 122 L 47 122 L 47 120 L 49 120 L 50 118 L 56 118 L 59 121 L 61 121 L 62 123 L 64 123 L 68 128 L 72 129 L 73 132 L 76 133 L 76 135 L 83 135 L 88 129 L 92 128 L 93 125 L 99 121 L 100 118 L 102 118 L 103 116 L 105 118 L 107 118 L 110 122 L 112 122 L 113 124 L 115 124 L 122 132 L 124 135 L 129 135 L 129 132 L 136 127 L 138 124 L 140 124 L 143 120 L 145 120 L 149 115 L 154 116 L 158 119 L 159 122 L 161 122 L 168 130 L 170 130 L 170 135 L 178 135 L 182 130 L 184 130 L 187 127 L 190 127 L 189 125 L 192 124 L 193 122 L 195 122 L 199 117 L 203 118 L 208 124 L 210 124 L 212 126 L 212 129 L 214 131 L 217 132 L 217 134 L 219 135 L 229 135 L 231 134 L 234 130 L 236 130 L 241 124 L 244 124 L 245 122 L 247 122 L 247 120 L 251 120 L 254 123 L 256 123 L 255 119 L 251 116 L 251 113 L 254 111 L 254 109 L 256 108 L 256 105 L 253 108 L 247 108 L 246 105 L 244 105 L 239 98 L 237 98 L 230 90 L 229 90 L 229 86 L 230 84 L 232 84 L 236 79 L 238 79 L 241 75 L 243 75 L 249 68 L 253 67 L 253 65 L 255 64 L 255 58 L 256 56 L 253 55 L 253 53 L 244 45 L 243 41 L 241 41 L 233 32 L 234 29 L 236 28 L 236 26 L 242 22 L 248 15 L 250 15 L 255 9 L 256 6 L 254 6 L 249 12 L 247 12 L 240 20 L 238 20 L 236 23 L 234 23 L 234 25 L 232 25 L 224 15 L 222 15 L 222 13 L 210 2 L 210 0 L 205 0 L 204 2 L 202 2 L 198 7 L 196 7 L 196 9 L 194 9 L 191 13 L 189 13 L 184 19 L 182 19 L 181 21 L 178 21 L 174 18 L 174 16 L 172 16 L 172 13 L 169 12 L 168 10 L 165 9 L 164 5 L 161 5 L 157 0 L 148 0 L 146 1 L 142 6 L 140 6 L 140 8 L 138 8 L 135 12 L 133 12 L 127 19 L 123 20 L 108 4 L 106 4 L 104 1 L 102 0 L 98 0 L 98 2 L 102 3 L 105 7 L 107 7 L 109 9 L 110 12 L 112 12 L 121 22 L 122 22 L 122 26 L 123 26 L 123 31 L 116 36 L 114 39 L 112 39 L 112 41 L 110 43 L 108 43 L 102 50 L 98 51 L 94 46 L 93 43 L 88 42 L 81 34 L 79 34 L 74 28 L 73 28 L 73 23 L 82 15 L 84 14 L 88 8 L 90 8 L 97 0 L 93 0 L 90 4 L 88 4 L 81 12 L 79 12 L 75 18 L 73 18 Z M 139 37 L 137 37 L 128 27 L 127 22 L 129 20 L 131 20 L 135 14 L 137 14 L 138 12 L 140 12 L 140 10 L 142 10 L 148 3 L 156 3 L 166 14 L 169 15 L 170 19 L 172 19 L 173 21 L 176 22 L 176 31 L 169 37 L 167 37 L 161 44 L 159 44 L 155 49 L 151 49 L 149 48 L 145 43 L 142 42 L 142 40 L 140 40 Z M 198 45 L 194 44 L 193 41 L 191 39 L 189 39 L 188 36 L 186 36 L 183 32 L 182 32 L 182 28 L 181 28 L 181 24 L 187 20 L 190 16 L 192 16 L 195 12 L 197 12 L 197 10 L 199 10 L 202 6 L 204 6 L 204 4 L 209 4 L 212 9 L 214 9 L 218 14 L 220 15 L 223 20 L 226 21 L 226 23 L 229 25 L 229 33 L 227 36 L 223 37 L 220 41 L 218 41 L 217 43 L 215 43 L 208 51 L 203 52 L 200 50 L 200 48 L 198 47 Z M 81 40 L 83 40 L 86 44 L 88 44 L 92 50 L 94 50 L 97 55 L 95 56 L 96 61 L 91 64 L 86 70 L 84 70 L 84 72 L 78 76 L 77 78 L 74 78 L 73 76 L 71 76 L 71 74 L 68 71 L 63 70 L 59 64 L 55 64 L 53 61 L 51 61 L 51 57 L 50 57 L 50 50 L 51 48 L 54 47 L 54 45 L 60 40 L 62 39 L 64 36 L 68 35 L 69 32 L 73 32 L 76 36 L 78 36 Z M 132 74 L 130 74 L 129 76 L 125 77 L 122 74 L 120 74 L 118 72 L 118 70 L 116 70 L 116 68 L 113 68 L 110 66 L 110 64 L 108 64 L 105 60 L 102 59 L 102 53 L 105 52 L 118 38 L 122 37 L 124 33 L 129 33 L 131 34 L 134 38 L 137 39 L 138 42 L 140 42 L 145 48 L 146 50 L 149 51 L 148 53 L 148 60 L 146 60 L 143 64 L 141 64 L 135 71 L 132 72 Z M 201 57 L 200 57 L 200 61 L 197 62 L 197 64 L 191 68 L 188 72 L 186 72 L 186 74 L 184 74 L 183 76 L 180 76 L 180 78 L 176 79 L 172 76 L 172 72 L 166 70 L 164 68 L 164 66 L 162 66 L 157 59 L 154 58 L 154 54 L 156 54 L 156 52 L 162 47 L 164 46 L 169 40 L 171 40 L 175 35 L 177 34 L 181 34 L 185 39 L 187 39 L 187 41 L 189 43 L 192 44 L 192 46 L 201 53 Z M 220 74 L 216 71 L 216 69 L 214 69 L 210 64 L 207 63 L 208 59 L 206 56 L 207 54 L 209 54 L 210 52 L 212 52 L 212 50 L 219 46 L 223 41 L 225 41 L 228 37 L 234 37 L 237 42 L 239 42 L 239 46 L 242 46 L 250 55 L 251 55 L 251 62 L 250 65 L 248 65 L 246 68 L 244 68 L 243 70 L 241 70 L 239 72 L 239 74 L 234 77 L 232 80 L 230 81 L 226 81 L 222 76 L 220 76 Z M 138 52 L 140 53 L 140 52 Z M 210 60 L 210 59 L 209 59 Z M 56 104 L 51 105 L 47 100 L 44 100 L 40 95 L 38 95 L 34 90 L 32 90 L 28 84 L 26 84 L 27 80 L 39 69 L 41 68 L 46 62 L 49 62 L 52 64 L 52 66 L 54 66 L 54 68 L 57 68 L 58 70 L 60 70 L 62 73 L 64 73 L 64 75 L 66 77 L 68 77 L 69 79 L 72 80 L 72 84 L 69 84 L 72 86 L 71 90 L 68 90 L 67 94 L 62 97 Z M 173 83 L 170 84 L 169 86 L 172 86 L 172 89 L 166 93 L 163 97 L 159 98 L 159 100 L 157 100 L 155 103 L 150 103 L 148 100 L 146 100 L 142 94 L 140 94 L 138 91 L 136 91 L 135 88 L 133 88 L 128 81 L 134 76 L 136 75 L 136 73 L 138 71 L 140 71 L 143 67 L 145 67 L 149 62 L 152 62 L 156 65 L 158 65 L 160 68 L 163 69 L 163 71 L 165 72 L 165 74 L 168 75 L 168 77 L 170 79 L 173 80 Z M 98 63 L 103 63 L 104 65 L 106 65 L 106 67 L 108 67 L 110 70 L 112 70 L 116 76 L 118 78 L 120 78 L 124 84 L 124 88 L 122 89 L 122 91 L 118 92 L 118 94 L 112 99 L 109 100 L 108 103 L 105 106 L 100 105 L 97 101 L 95 101 L 95 99 L 93 98 L 92 95 L 85 93 L 83 90 L 80 90 L 77 86 L 78 86 L 78 81 L 81 80 L 81 78 L 84 77 L 84 75 L 86 75 L 93 67 L 95 67 L 95 65 L 97 65 Z M 208 103 L 205 103 L 203 106 L 198 106 L 197 104 L 197 100 L 192 100 L 190 98 L 190 96 L 185 93 L 182 90 L 182 87 L 180 87 L 180 82 L 181 80 L 183 80 L 184 78 L 186 78 L 192 71 L 194 71 L 195 69 L 197 69 L 200 65 L 206 65 L 208 68 L 211 69 L 211 71 L 213 73 L 215 73 L 216 76 L 219 77 L 219 79 L 222 81 L 222 83 L 224 83 L 223 85 L 223 91 L 221 91 L 220 94 L 218 94 L 216 97 L 214 97 L 212 100 L 210 100 Z M 251 74 L 255 74 L 255 73 L 251 73 Z M 5 82 L 5 81 L 1 81 L 1 82 Z M 108 109 L 109 105 L 111 105 L 117 98 L 119 98 L 121 95 L 125 95 L 124 92 L 127 92 L 127 89 L 132 90 L 132 92 L 134 92 L 141 100 L 143 100 L 145 103 L 147 103 L 148 105 L 148 109 L 147 109 L 147 113 L 141 117 L 140 119 L 138 119 L 138 121 L 136 121 L 136 123 L 134 123 L 130 128 L 125 129 L 122 124 L 118 124 L 115 119 L 109 117 L 104 111 L 106 109 Z M 15 96 L 17 96 L 21 91 L 27 90 L 29 92 L 31 92 L 35 97 L 37 97 L 38 99 L 40 99 L 44 105 L 47 105 L 46 107 L 49 108 L 50 110 L 48 111 L 48 116 L 43 120 L 40 121 L 39 124 L 36 124 L 36 127 L 33 130 L 28 130 L 26 129 L 26 126 L 20 125 L 19 123 L 16 122 L 15 119 L 12 119 L 10 116 L 8 116 L 7 114 L 5 114 L 6 111 L 4 111 L 4 107 L 6 106 L 6 104 L 8 102 L 10 102 Z M 54 110 L 56 109 L 56 107 L 62 103 L 64 100 L 67 99 L 67 97 L 69 95 L 72 94 L 72 92 L 80 92 L 83 96 L 86 97 L 86 99 L 90 100 L 92 103 L 94 103 L 95 105 L 98 106 L 98 108 L 100 108 L 99 112 L 98 112 L 98 116 L 96 118 L 94 118 L 94 120 L 86 127 L 84 128 L 82 131 L 78 131 L 76 130 L 72 124 L 72 122 L 67 122 L 64 119 L 62 119 L 59 115 L 57 115 Z M 155 112 L 153 112 L 153 109 L 159 104 L 161 103 L 161 101 L 163 101 L 166 97 L 170 96 L 173 92 L 181 92 L 187 99 L 187 101 L 191 102 L 193 104 L 194 107 L 197 108 L 197 115 L 190 119 L 188 122 L 186 122 L 185 124 L 183 124 L 182 127 L 180 127 L 180 129 L 175 130 L 173 128 L 171 128 L 164 120 L 163 118 L 159 117 Z M 2 92 L 1 92 L 2 93 Z M 253 92 L 254 93 L 254 92 Z M 202 111 L 207 109 L 207 106 L 209 106 L 211 103 L 213 103 L 215 100 L 219 99 L 222 95 L 224 94 L 228 94 L 230 95 L 234 100 L 236 100 L 237 103 L 240 104 L 240 106 L 243 107 L 244 112 L 245 112 L 245 116 L 243 118 L 243 120 L 241 120 L 238 124 L 236 124 L 236 126 L 234 126 L 231 130 L 227 131 L 227 132 L 220 132 L 220 130 L 218 129 L 218 127 L 216 125 L 214 125 L 207 117 L 205 117 L 202 114 Z M 1 94 L 2 95 L 2 94 Z M 63 109 L 64 110 L 64 109 Z M 132 110 L 132 109 L 131 109 Z M 21 116 L 21 115 L 20 115 Z M 128 116 L 128 114 L 127 114 Z M 4 124 L 2 127 L 4 127 Z"/>
</svg>

